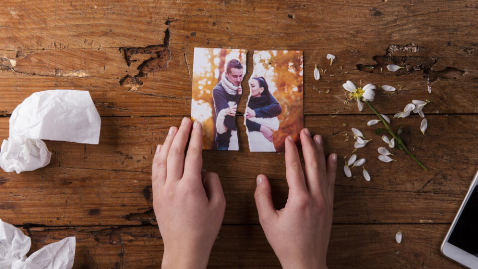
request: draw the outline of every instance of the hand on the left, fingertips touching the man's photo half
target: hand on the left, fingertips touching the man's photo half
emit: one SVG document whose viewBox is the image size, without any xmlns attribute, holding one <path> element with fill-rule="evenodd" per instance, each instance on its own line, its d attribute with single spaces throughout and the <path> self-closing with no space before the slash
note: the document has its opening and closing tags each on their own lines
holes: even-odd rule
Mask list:
<svg viewBox="0 0 478 269">
<path fill-rule="evenodd" d="M 152 165 L 153 209 L 163 239 L 162 268 L 206 268 L 224 218 L 218 174 L 201 171 L 203 134 L 191 120 L 169 129 Z"/>
</svg>

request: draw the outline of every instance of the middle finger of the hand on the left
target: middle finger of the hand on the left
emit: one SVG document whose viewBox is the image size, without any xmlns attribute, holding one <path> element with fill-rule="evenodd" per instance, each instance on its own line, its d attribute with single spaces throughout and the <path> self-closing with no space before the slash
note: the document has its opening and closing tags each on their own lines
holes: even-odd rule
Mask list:
<svg viewBox="0 0 478 269">
<path fill-rule="evenodd" d="M 184 150 L 191 130 L 191 120 L 183 118 L 178 132 L 174 136 L 171 148 L 168 153 L 166 180 L 180 179 L 184 169 Z"/>
</svg>

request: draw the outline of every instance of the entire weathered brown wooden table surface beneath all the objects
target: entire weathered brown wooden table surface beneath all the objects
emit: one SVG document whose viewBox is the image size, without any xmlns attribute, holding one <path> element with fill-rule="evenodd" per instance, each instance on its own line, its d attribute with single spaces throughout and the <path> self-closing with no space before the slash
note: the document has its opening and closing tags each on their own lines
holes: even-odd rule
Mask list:
<svg viewBox="0 0 478 269">
<path fill-rule="evenodd" d="M 48 166 L 0 171 L 0 218 L 31 237 L 30 253 L 76 236 L 74 268 L 158 268 L 151 160 L 168 128 L 190 115 L 194 47 L 248 49 L 246 79 L 253 50 L 303 50 L 304 126 L 339 154 L 328 265 L 458 268 L 439 247 L 477 170 L 477 17 L 476 0 L 4 0 L 0 137 L 8 137 L 9 116 L 23 99 L 50 89 L 90 91 L 102 127 L 98 145 L 45 141 Z M 337 56 L 332 67 L 328 53 Z M 392 63 L 405 69 L 388 72 Z M 328 69 L 319 81 L 315 64 Z M 416 114 L 392 121 L 394 129 L 404 124 L 402 136 L 427 171 L 397 149 L 396 162 L 377 159 L 384 143 L 366 126 L 374 116 L 344 104 L 346 80 L 396 87 L 377 89 L 373 102 L 390 118 L 411 100 L 432 101 L 426 135 Z M 373 138 L 357 151 L 370 182 L 361 168 L 352 178 L 342 171 L 354 149 L 351 127 Z M 238 128 L 239 151 L 203 154 L 227 199 L 209 267 L 277 268 L 253 192 L 264 173 L 276 206 L 284 205 L 284 154 L 248 152 Z"/>
</svg>

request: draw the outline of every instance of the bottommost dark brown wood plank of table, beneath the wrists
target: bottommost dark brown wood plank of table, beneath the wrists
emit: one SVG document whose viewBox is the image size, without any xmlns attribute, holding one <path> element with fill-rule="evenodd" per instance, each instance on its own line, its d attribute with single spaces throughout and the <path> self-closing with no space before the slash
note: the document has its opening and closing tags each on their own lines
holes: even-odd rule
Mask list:
<svg viewBox="0 0 478 269">
<path fill-rule="evenodd" d="M 460 268 L 441 256 L 448 225 L 333 225 L 330 268 Z M 395 233 L 402 231 L 401 244 Z M 29 228 L 31 252 L 75 236 L 74 268 L 158 268 L 163 244 L 157 226 Z M 30 252 L 30 253 L 31 253 Z M 279 268 L 258 225 L 223 226 L 208 268 Z"/>
</svg>

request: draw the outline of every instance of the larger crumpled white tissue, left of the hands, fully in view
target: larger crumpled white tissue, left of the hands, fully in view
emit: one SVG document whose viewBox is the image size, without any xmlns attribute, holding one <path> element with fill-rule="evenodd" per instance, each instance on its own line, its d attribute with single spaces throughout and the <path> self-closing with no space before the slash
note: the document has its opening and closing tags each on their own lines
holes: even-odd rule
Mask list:
<svg viewBox="0 0 478 269">
<path fill-rule="evenodd" d="M 0 149 L 5 172 L 33 171 L 50 163 L 41 139 L 98 144 L 101 118 L 88 91 L 49 90 L 23 100 L 10 117 Z"/>
</svg>

